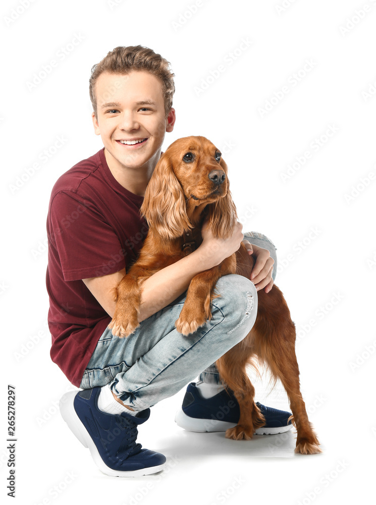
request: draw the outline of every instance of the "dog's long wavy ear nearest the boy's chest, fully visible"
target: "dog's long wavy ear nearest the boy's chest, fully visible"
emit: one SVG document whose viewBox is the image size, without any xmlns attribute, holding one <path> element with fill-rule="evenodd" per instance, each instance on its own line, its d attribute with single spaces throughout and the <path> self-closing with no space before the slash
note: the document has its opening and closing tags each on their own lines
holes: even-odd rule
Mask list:
<svg viewBox="0 0 376 505">
<path fill-rule="evenodd" d="M 169 153 L 164 153 L 155 166 L 140 212 L 149 227 L 165 239 L 181 237 L 192 228 L 184 192 L 175 177 Z"/>
</svg>

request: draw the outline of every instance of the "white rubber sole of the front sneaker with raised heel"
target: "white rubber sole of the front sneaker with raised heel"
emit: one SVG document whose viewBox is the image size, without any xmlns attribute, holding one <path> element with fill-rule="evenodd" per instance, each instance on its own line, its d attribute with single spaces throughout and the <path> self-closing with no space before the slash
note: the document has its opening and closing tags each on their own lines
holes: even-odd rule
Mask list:
<svg viewBox="0 0 376 505">
<path fill-rule="evenodd" d="M 111 477 L 139 477 L 140 475 L 150 475 L 160 472 L 165 468 L 166 462 L 155 467 L 141 468 L 140 470 L 132 470 L 129 472 L 120 472 L 108 467 L 103 462 L 102 458 L 99 455 L 98 449 L 95 446 L 95 443 L 93 442 L 85 426 L 81 423 L 80 418 L 76 414 L 73 406 L 73 401 L 76 394 L 77 391 L 69 391 L 61 397 L 59 402 L 60 413 L 73 434 L 78 438 L 84 447 L 87 447 L 90 450 L 90 454 L 94 460 L 94 463 L 102 473 L 105 475 L 110 475 Z"/>
</svg>

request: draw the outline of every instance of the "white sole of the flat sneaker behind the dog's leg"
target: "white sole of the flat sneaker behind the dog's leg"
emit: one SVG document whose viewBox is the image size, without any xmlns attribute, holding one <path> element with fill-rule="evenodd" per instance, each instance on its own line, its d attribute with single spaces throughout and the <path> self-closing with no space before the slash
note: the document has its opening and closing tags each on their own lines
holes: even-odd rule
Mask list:
<svg viewBox="0 0 376 505">
<path fill-rule="evenodd" d="M 229 428 L 234 428 L 236 423 L 228 423 L 226 421 L 218 421 L 217 419 L 197 419 L 187 416 L 183 409 L 180 408 L 175 415 L 175 422 L 180 428 L 187 431 L 196 431 L 198 433 L 213 433 L 217 431 L 226 431 Z M 281 426 L 279 428 L 258 428 L 255 435 L 278 435 L 291 430 L 292 424 Z"/>
</svg>

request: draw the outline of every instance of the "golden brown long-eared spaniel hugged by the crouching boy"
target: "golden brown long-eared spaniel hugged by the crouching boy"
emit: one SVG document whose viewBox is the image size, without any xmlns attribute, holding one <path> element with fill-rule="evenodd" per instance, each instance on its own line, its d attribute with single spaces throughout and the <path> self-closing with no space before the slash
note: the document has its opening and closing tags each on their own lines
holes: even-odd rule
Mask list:
<svg viewBox="0 0 376 505">
<path fill-rule="evenodd" d="M 193 160 L 184 161 L 191 153 Z M 114 335 L 128 336 L 138 327 L 141 299 L 140 281 L 184 257 L 183 234 L 191 230 L 197 246 L 201 243 L 201 226 L 208 216 L 214 236 L 227 238 L 236 223 L 236 208 L 231 198 L 227 165 L 218 158 L 219 150 L 205 137 L 185 137 L 168 147 L 157 163 L 145 192 L 141 213 L 149 232 L 136 263 L 117 288 L 117 306 L 110 324 Z M 189 158 L 189 156 L 188 156 Z M 219 170 L 223 183 L 208 177 Z M 236 254 L 220 265 L 196 275 L 188 288 L 186 301 L 175 326 L 189 335 L 211 318 L 210 306 L 217 280 L 227 274 L 248 279 L 254 264 L 241 245 Z M 319 442 L 308 421 L 300 392 L 299 368 L 295 355 L 295 325 L 280 289 L 258 291 L 257 317 L 250 333 L 217 361 L 221 379 L 234 392 L 240 406 L 240 419 L 226 437 L 250 439 L 265 420 L 254 402 L 254 387 L 246 365 L 257 357 L 280 379 L 286 389 L 297 429 L 296 452 L 320 452 Z"/>
</svg>

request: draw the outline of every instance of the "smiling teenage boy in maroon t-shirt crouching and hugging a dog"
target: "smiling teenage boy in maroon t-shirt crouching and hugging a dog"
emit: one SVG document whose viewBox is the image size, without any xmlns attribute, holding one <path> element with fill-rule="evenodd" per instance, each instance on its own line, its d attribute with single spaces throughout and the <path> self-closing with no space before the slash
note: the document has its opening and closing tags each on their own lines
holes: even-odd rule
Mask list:
<svg viewBox="0 0 376 505">
<path fill-rule="evenodd" d="M 239 407 L 224 390 L 215 362 L 252 328 L 257 290 L 273 286 L 275 248 L 265 236 L 249 234 L 253 282 L 222 277 L 212 320 L 188 337 L 178 333 L 174 323 L 191 279 L 233 254 L 244 238 L 240 223 L 226 240 L 203 227 L 197 250 L 144 282 L 135 333 L 118 338 L 108 329 L 114 287 L 147 233 L 139 215 L 143 195 L 165 132 L 174 128 L 173 75 L 169 62 L 142 46 L 117 47 L 92 68 L 92 119 L 104 148 L 59 178 L 48 210 L 50 355 L 82 388 L 63 396 L 61 413 L 100 470 L 114 476 L 164 468 L 164 455 L 136 443 L 137 425 L 157 401 L 200 373 L 177 413 L 179 426 L 221 431 L 237 422 Z M 290 429 L 290 413 L 259 406 L 266 418 L 260 433 Z"/>
</svg>

